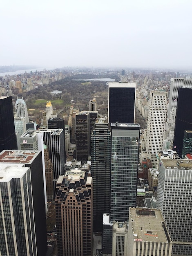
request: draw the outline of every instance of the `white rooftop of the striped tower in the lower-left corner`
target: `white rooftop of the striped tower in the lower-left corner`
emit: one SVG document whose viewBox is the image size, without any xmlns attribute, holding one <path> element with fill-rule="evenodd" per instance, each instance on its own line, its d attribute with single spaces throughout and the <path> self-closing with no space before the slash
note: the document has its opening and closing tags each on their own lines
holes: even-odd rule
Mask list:
<svg viewBox="0 0 192 256">
<path fill-rule="evenodd" d="M 9 182 L 12 178 L 21 178 L 29 167 L 24 164 L 0 164 L 0 182 Z"/>
</svg>

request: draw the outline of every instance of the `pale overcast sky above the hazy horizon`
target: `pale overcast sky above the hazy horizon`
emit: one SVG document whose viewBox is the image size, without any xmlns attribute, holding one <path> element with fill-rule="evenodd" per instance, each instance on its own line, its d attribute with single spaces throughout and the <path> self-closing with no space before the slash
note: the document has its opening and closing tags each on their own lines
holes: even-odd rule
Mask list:
<svg viewBox="0 0 192 256">
<path fill-rule="evenodd" d="M 2 0 L 0 65 L 192 69 L 191 0 Z"/>
</svg>

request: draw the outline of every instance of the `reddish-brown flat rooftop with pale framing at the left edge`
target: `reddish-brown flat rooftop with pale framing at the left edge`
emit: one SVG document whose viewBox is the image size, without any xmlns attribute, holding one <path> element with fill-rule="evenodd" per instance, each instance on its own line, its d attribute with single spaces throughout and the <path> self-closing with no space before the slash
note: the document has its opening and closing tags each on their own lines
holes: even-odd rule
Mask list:
<svg viewBox="0 0 192 256">
<path fill-rule="evenodd" d="M 31 164 L 39 153 L 39 150 L 3 150 L 0 152 L 0 163 Z"/>
</svg>

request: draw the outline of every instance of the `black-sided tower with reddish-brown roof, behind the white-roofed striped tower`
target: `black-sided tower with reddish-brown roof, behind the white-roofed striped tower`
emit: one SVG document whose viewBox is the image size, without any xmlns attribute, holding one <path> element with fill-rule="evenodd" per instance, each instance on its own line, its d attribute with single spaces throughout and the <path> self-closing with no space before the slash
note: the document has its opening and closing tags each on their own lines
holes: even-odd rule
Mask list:
<svg viewBox="0 0 192 256">
<path fill-rule="evenodd" d="M 27 182 L 30 182 L 31 180 L 32 201 L 30 200 L 30 204 L 31 204 L 30 207 L 33 207 L 33 213 L 34 213 L 34 225 L 35 225 L 36 247 L 37 247 L 36 255 L 45 256 L 47 251 L 47 232 L 46 232 L 46 210 L 45 210 L 45 195 L 44 195 L 44 181 L 43 181 L 43 168 L 42 168 L 42 153 L 41 151 L 38 151 L 38 150 L 36 150 L 35 152 L 34 151 L 31 152 L 31 150 L 29 151 L 28 150 L 24 150 L 24 151 L 3 150 L 0 153 L 0 164 L 2 163 L 14 164 L 14 165 L 23 164 L 24 167 L 30 168 L 30 172 L 29 172 L 30 176 L 27 175 Z M 25 200 L 28 200 L 26 196 L 27 196 L 27 192 L 30 193 L 30 191 L 27 191 L 25 186 L 24 186 L 24 189 L 25 189 L 24 191 Z M 11 194 L 12 194 L 12 191 L 11 191 Z M 2 205 L 2 202 L 1 202 L 1 205 Z M 14 203 L 14 207 L 18 207 L 18 205 Z M 10 223 L 11 222 L 9 222 L 9 227 L 10 227 Z M 30 225 L 30 224 L 32 225 L 32 223 L 27 222 L 27 225 Z M 7 234 L 7 236 L 8 235 L 9 234 Z M 10 255 L 10 254 L 4 254 L 4 255 Z M 15 255 L 15 254 L 12 254 L 12 255 Z M 20 255 L 20 254 L 16 254 L 16 255 Z M 29 256 L 31 255 L 32 254 L 29 254 Z"/>
</svg>

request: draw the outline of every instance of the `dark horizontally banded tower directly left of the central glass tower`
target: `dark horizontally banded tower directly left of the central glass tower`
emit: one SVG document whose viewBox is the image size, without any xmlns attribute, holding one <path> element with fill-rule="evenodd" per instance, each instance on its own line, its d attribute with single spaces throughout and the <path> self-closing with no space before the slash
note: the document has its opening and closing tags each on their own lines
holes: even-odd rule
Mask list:
<svg viewBox="0 0 192 256">
<path fill-rule="evenodd" d="M 111 128 L 104 118 L 97 118 L 92 130 L 91 162 L 94 231 L 99 231 L 102 230 L 103 213 L 110 212 Z"/>
</svg>

